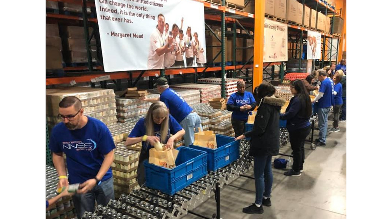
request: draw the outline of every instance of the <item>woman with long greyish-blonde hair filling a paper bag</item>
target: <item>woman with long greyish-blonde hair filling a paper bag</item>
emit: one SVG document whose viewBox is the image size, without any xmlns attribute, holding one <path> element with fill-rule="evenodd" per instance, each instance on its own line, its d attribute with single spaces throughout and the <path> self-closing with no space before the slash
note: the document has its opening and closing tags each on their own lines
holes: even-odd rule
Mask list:
<svg viewBox="0 0 392 219">
<path fill-rule="evenodd" d="M 145 181 L 143 161 L 149 158 L 149 150 L 154 147 L 154 144 L 161 142 L 166 144 L 167 148 L 173 149 L 174 140 L 184 134 L 184 129 L 169 115 L 169 110 L 163 102 L 158 101 L 151 104 L 146 117 L 136 123 L 125 141 L 125 145 L 142 142 L 137 171 L 139 185 L 143 185 Z"/>
</svg>

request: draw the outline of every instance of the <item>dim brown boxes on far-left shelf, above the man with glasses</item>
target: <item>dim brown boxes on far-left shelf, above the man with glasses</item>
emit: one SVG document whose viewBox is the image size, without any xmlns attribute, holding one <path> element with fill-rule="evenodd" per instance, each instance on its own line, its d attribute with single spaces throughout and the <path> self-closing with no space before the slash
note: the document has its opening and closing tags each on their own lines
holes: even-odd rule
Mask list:
<svg viewBox="0 0 392 219">
<path fill-rule="evenodd" d="M 62 44 L 57 24 L 46 24 L 46 69 L 60 69 L 62 65 Z"/>
</svg>

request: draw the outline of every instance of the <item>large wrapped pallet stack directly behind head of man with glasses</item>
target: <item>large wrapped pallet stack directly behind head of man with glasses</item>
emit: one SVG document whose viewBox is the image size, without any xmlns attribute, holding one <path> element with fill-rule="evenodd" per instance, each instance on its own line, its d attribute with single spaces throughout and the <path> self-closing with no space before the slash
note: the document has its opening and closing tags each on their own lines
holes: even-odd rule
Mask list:
<svg viewBox="0 0 392 219">
<path fill-rule="evenodd" d="M 112 89 L 67 87 L 46 89 L 46 118 L 49 127 L 62 122 L 58 104 L 64 97 L 76 96 L 82 101 L 83 115 L 97 118 L 106 125 L 117 122 L 116 100 Z"/>
</svg>

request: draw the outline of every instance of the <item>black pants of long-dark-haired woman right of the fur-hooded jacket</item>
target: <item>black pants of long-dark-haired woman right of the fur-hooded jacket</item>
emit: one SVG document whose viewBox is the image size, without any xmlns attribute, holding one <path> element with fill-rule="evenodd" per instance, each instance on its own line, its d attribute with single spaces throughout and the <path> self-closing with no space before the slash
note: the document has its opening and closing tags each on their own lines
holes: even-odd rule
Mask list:
<svg viewBox="0 0 392 219">
<path fill-rule="evenodd" d="M 310 133 L 310 126 L 289 131 L 290 144 L 293 150 L 293 166 L 294 171 L 299 172 L 303 169 L 303 163 L 305 163 L 305 139 Z"/>
</svg>

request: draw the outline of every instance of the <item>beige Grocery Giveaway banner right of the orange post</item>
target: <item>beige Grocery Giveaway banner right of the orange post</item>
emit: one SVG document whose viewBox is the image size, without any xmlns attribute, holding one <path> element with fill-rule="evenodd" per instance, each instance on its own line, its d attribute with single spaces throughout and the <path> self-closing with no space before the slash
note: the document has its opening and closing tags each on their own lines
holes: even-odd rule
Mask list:
<svg viewBox="0 0 392 219">
<path fill-rule="evenodd" d="M 264 19 L 263 62 L 287 61 L 287 24 Z"/>
</svg>

